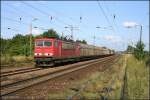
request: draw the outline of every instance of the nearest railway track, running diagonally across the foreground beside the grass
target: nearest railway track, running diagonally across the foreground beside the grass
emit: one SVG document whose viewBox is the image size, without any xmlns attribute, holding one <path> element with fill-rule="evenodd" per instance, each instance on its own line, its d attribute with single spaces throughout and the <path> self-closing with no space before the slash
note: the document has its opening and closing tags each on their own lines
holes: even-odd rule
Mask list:
<svg viewBox="0 0 150 100">
<path fill-rule="evenodd" d="M 19 90 L 22 90 L 22 89 L 28 88 L 30 86 L 48 81 L 50 79 L 53 79 L 53 78 L 56 78 L 59 76 L 63 76 L 65 74 L 86 68 L 86 67 L 91 66 L 93 64 L 111 61 L 115 57 L 117 57 L 117 56 L 115 55 L 115 56 L 105 57 L 105 58 L 96 59 L 96 60 L 92 60 L 92 61 L 87 61 L 86 63 L 82 63 L 82 64 L 78 64 L 78 65 L 72 64 L 71 66 L 65 67 L 61 70 L 57 70 L 57 71 L 54 71 L 51 73 L 38 75 L 36 77 L 32 77 L 32 78 L 25 79 L 25 80 L 19 80 L 18 82 L 14 82 L 11 84 L 4 84 L 1 86 L 1 96 L 2 97 L 7 96 L 7 95 L 15 93 Z"/>
</svg>

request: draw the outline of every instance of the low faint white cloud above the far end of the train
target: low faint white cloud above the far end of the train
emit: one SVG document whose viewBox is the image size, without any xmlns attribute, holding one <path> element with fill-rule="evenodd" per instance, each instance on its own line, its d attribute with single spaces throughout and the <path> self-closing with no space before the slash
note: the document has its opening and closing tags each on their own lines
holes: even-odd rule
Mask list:
<svg viewBox="0 0 150 100">
<path fill-rule="evenodd" d="M 101 36 L 101 39 L 110 41 L 112 43 L 123 42 L 123 39 L 120 36 L 115 36 L 115 35 L 104 35 Z"/>
</svg>

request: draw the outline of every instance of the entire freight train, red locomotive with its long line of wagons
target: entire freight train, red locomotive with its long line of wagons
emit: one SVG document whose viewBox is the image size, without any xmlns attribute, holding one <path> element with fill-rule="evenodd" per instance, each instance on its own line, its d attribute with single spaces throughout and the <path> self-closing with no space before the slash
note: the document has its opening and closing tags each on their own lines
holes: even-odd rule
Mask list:
<svg viewBox="0 0 150 100">
<path fill-rule="evenodd" d="M 34 59 L 37 66 L 52 66 L 57 62 L 80 61 L 113 55 L 108 48 L 68 42 L 56 38 L 35 39 Z"/>
</svg>

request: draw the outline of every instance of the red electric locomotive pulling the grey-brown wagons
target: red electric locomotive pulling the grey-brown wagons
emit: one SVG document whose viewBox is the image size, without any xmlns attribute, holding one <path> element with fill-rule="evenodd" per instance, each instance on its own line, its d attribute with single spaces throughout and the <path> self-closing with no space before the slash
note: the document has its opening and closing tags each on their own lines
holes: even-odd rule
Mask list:
<svg viewBox="0 0 150 100">
<path fill-rule="evenodd" d="M 76 58 L 79 55 L 78 43 L 56 38 L 35 39 L 34 58 L 39 66 L 50 66 L 54 62 Z"/>
</svg>

